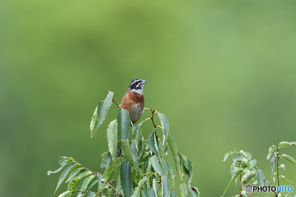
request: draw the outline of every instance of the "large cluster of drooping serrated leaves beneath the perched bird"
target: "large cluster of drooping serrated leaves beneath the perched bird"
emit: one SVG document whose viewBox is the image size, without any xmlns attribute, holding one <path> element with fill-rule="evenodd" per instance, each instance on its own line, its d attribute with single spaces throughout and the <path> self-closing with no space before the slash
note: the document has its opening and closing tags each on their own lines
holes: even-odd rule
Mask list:
<svg viewBox="0 0 296 197">
<path fill-rule="evenodd" d="M 113 98 L 113 92 L 106 91 L 108 92 L 107 97 L 104 101 L 98 102 L 90 124 L 91 137 L 93 137 L 104 121 L 112 102 L 118 106 L 117 118 L 111 121 L 107 128 L 108 151 L 101 155 L 101 168 L 105 169 L 104 173 L 89 170 L 72 157 L 62 157 L 63 160 L 59 161 L 61 167 L 54 172 L 48 172 L 48 175 L 57 173 L 65 167 L 56 191 L 66 178 L 65 183 L 68 183 L 68 189 L 59 197 L 68 197 L 73 193 L 77 193 L 78 197 L 102 197 L 104 195 L 176 197 L 174 185 L 177 177 L 183 181 L 178 187 L 182 193 L 181 196 L 189 194 L 192 197 L 198 197 L 198 189 L 191 185 L 192 162 L 178 152 L 176 143 L 169 133 L 166 116 L 149 109 L 152 116 L 135 126 L 130 122 L 128 111 L 120 108 Z M 155 124 L 156 117 L 160 125 Z M 145 139 L 142 131 L 149 119 L 153 123 L 153 132 Z M 159 128 L 163 136 L 162 141 L 156 133 Z M 132 133 L 131 139 L 129 138 L 130 133 Z M 122 150 L 120 158 L 116 157 L 117 144 Z M 172 153 L 176 169 L 173 169 L 168 162 L 168 149 Z M 117 171 L 119 173 L 116 173 Z"/>
</svg>

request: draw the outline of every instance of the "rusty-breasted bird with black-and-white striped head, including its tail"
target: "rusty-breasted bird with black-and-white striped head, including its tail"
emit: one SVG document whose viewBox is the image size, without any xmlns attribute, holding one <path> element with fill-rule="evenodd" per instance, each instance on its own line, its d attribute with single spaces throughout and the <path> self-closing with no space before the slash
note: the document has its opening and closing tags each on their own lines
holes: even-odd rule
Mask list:
<svg viewBox="0 0 296 197">
<path fill-rule="evenodd" d="M 123 96 L 119 105 L 120 108 L 128 110 L 133 124 L 139 120 L 144 110 L 143 87 L 146 82 L 139 78 L 133 79 L 128 87 L 128 92 Z M 119 143 L 117 144 L 117 150 L 117 157 L 120 157 L 122 154 Z"/>
</svg>

